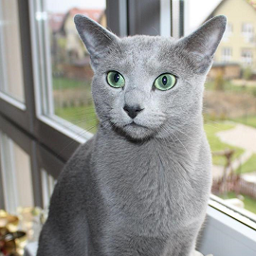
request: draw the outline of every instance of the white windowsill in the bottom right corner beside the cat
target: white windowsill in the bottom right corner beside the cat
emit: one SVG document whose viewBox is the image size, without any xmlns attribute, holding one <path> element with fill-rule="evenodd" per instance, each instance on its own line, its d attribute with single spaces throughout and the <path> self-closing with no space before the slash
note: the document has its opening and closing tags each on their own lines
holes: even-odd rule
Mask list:
<svg viewBox="0 0 256 256">
<path fill-rule="evenodd" d="M 208 207 L 205 229 L 202 230 L 198 250 L 204 255 L 214 256 L 256 255 L 255 229 L 215 207 Z"/>
</svg>

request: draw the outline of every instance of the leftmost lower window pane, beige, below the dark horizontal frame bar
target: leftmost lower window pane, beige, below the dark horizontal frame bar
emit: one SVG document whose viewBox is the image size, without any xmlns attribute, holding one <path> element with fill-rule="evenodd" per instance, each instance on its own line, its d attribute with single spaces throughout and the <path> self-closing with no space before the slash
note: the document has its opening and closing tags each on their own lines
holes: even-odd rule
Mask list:
<svg viewBox="0 0 256 256">
<path fill-rule="evenodd" d="M 6 210 L 34 206 L 30 157 L 7 135 L 0 133 L 1 170 Z"/>
</svg>

